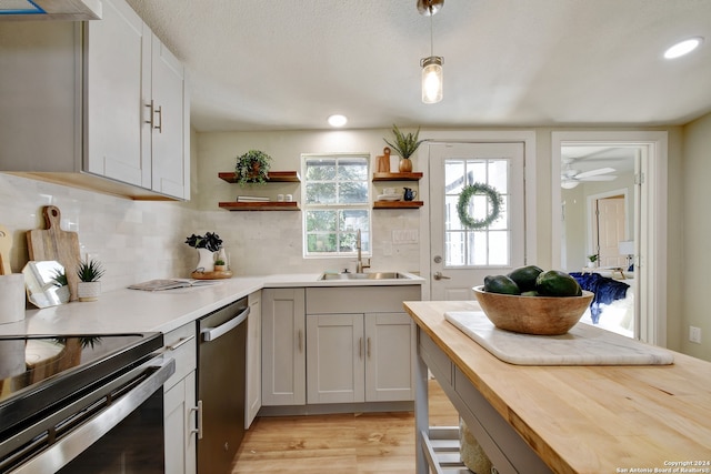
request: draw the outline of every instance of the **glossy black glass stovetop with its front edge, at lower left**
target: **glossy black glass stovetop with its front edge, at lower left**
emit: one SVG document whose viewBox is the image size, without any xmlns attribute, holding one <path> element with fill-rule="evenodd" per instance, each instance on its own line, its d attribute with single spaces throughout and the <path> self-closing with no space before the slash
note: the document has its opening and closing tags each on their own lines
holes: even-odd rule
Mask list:
<svg viewBox="0 0 711 474">
<path fill-rule="evenodd" d="M 162 345 L 161 333 L 0 336 L 0 434 Z"/>
</svg>

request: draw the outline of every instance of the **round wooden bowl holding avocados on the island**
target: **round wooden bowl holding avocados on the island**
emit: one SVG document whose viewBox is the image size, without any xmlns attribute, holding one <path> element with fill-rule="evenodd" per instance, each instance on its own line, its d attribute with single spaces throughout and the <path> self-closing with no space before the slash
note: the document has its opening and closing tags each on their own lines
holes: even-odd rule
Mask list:
<svg viewBox="0 0 711 474">
<path fill-rule="evenodd" d="M 472 289 L 482 311 L 494 326 L 523 334 L 565 334 L 585 313 L 594 293 L 582 296 L 518 296 Z"/>
</svg>

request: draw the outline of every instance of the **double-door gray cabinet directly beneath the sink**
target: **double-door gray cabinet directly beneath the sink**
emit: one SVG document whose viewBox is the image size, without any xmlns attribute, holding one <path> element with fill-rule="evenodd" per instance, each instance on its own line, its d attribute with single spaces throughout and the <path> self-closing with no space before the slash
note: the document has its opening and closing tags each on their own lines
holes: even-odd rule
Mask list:
<svg viewBox="0 0 711 474">
<path fill-rule="evenodd" d="M 307 289 L 309 404 L 414 400 L 419 286 Z"/>
</svg>

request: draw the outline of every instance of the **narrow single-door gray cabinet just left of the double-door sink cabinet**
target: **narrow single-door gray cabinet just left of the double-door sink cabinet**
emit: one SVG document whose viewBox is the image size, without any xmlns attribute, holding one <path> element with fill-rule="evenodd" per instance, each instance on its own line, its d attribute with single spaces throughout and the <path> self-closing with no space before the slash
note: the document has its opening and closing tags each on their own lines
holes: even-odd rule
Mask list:
<svg viewBox="0 0 711 474">
<path fill-rule="evenodd" d="M 306 291 L 262 290 L 262 405 L 307 403 Z"/>
</svg>

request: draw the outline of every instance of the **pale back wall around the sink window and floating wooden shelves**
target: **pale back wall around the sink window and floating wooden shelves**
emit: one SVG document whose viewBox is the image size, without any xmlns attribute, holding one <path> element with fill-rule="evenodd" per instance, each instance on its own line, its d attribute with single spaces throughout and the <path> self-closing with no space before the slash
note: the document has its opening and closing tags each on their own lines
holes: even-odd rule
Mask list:
<svg viewBox="0 0 711 474">
<path fill-rule="evenodd" d="M 383 137 L 389 130 L 231 132 L 198 134 L 198 205 L 201 222 L 210 222 L 224 240 L 232 270 L 237 274 L 303 273 L 356 269 L 354 258 L 304 259 L 302 212 L 228 212 L 221 201 L 234 201 L 238 194 L 266 195 L 291 193 L 301 202 L 301 185 L 273 183 L 240 188 L 218 179 L 218 172 L 234 170 L 236 158 L 250 149 L 273 158 L 272 171 L 301 171 L 301 153 L 363 152 L 371 160 L 383 154 Z M 414 162 L 414 171 L 421 171 Z M 372 183 L 371 183 L 372 184 Z M 377 183 L 373 194 L 383 186 L 418 183 Z M 419 272 L 419 245 L 393 244 L 392 231 L 419 230 L 422 210 L 373 210 L 373 255 L 371 270 Z M 207 224 L 206 224 L 207 225 Z M 388 250 L 392 254 L 387 254 Z"/>
</svg>

